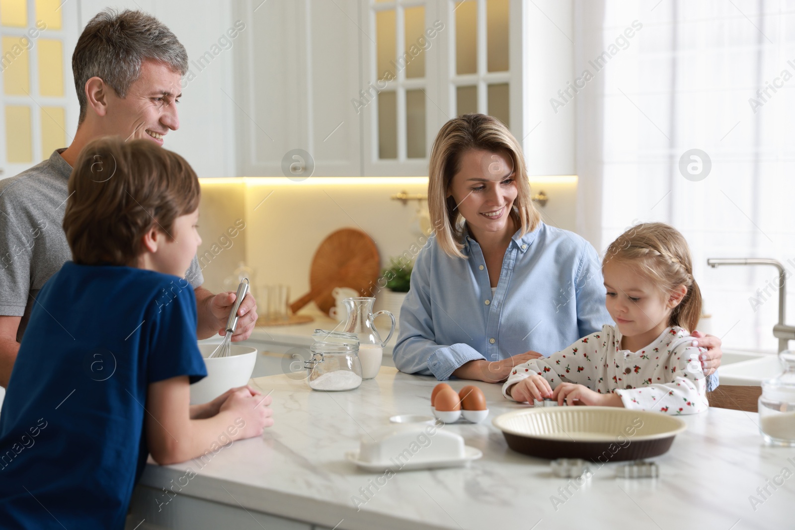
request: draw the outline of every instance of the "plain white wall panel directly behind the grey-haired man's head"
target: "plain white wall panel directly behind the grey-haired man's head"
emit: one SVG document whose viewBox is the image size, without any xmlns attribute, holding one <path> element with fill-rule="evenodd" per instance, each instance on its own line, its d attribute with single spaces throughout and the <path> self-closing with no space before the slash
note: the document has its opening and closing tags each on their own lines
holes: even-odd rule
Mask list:
<svg viewBox="0 0 795 530">
<path fill-rule="evenodd" d="M 218 44 L 219 37 L 235 24 L 231 3 L 216 0 L 79 2 L 80 33 L 91 17 L 107 7 L 144 10 L 169 26 L 188 51 L 190 61 L 212 51 L 213 44 Z M 246 24 L 246 21 L 242 23 Z M 232 57 L 242 47 L 242 38 L 248 29 L 250 26 L 246 24 L 246 29 L 235 40 L 231 40 L 231 48 L 223 49 L 219 46 L 221 51 L 203 71 L 200 72 L 195 64 L 190 64 L 196 79 L 183 89 L 183 97 L 178 106 L 180 129 L 169 133 L 165 148 L 185 157 L 199 176 L 231 176 L 237 173 L 234 124 L 236 107 L 229 96 L 235 97 Z M 72 51 L 68 51 L 70 56 Z"/>
</svg>

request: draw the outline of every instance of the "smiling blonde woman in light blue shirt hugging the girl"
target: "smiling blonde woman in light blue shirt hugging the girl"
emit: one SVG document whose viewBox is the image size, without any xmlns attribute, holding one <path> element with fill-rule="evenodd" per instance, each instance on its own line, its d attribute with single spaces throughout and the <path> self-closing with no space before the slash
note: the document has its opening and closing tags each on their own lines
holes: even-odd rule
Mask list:
<svg viewBox="0 0 795 530">
<path fill-rule="evenodd" d="M 504 381 L 538 352 L 613 323 L 593 246 L 542 222 L 530 197 L 522 148 L 502 122 L 465 114 L 441 128 L 428 184 L 435 234 L 401 308 L 397 369 Z M 710 375 L 720 340 L 696 333 Z"/>
</svg>

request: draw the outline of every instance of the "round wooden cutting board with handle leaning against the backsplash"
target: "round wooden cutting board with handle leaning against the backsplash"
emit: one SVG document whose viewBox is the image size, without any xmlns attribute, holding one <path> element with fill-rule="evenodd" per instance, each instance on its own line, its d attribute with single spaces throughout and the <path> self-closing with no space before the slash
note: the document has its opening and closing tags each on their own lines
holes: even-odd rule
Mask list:
<svg viewBox="0 0 795 530">
<path fill-rule="evenodd" d="M 293 313 L 315 301 L 320 311 L 336 305 L 335 287 L 350 287 L 362 296 L 370 296 L 381 271 L 378 247 L 362 230 L 343 228 L 329 234 L 312 257 L 309 269 L 309 292 L 290 304 Z"/>
</svg>

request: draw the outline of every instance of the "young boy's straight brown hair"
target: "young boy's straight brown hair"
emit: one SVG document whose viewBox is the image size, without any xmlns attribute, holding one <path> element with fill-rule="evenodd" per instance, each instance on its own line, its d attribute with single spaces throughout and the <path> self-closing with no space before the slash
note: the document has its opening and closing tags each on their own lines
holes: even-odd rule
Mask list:
<svg viewBox="0 0 795 530">
<path fill-rule="evenodd" d="M 183 157 L 121 137 L 83 148 L 68 191 L 64 231 L 80 265 L 136 266 L 144 234 L 156 227 L 172 241 L 174 220 L 200 200 L 196 172 Z"/>
</svg>

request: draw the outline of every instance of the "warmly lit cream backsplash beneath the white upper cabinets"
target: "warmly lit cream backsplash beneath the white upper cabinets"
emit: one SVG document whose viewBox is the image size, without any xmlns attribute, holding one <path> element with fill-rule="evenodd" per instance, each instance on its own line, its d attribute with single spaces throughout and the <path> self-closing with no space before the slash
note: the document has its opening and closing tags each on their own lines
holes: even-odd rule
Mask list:
<svg viewBox="0 0 795 530">
<path fill-rule="evenodd" d="M 312 257 L 335 230 L 351 227 L 369 234 L 378 246 L 382 268 L 390 257 L 407 252 L 410 257 L 412 247 L 425 241 L 417 201 L 404 204 L 390 195 L 425 194 L 427 180 L 363 178 L 364 184 L 356 180 L 348 184 L 351 180 L 323 179 L 316 177 L 312 183 L 277 177 L 202 179 L 199 257 L 204 286 L 211 292 L 224 290 L 224 279 L 245 261 L 255 272 L 255 296 L 259 286 L 286 284 L 293 301 L 308 292 Z M 549 195 L 549 202 L 540 207 L 544 221 L 573 230 L 576 180 L 531 179 L 531 187 L 533 193 L 543 190 Z M 425 201 L 420 213 L 427 215 Z M 308 304 L 301 312 L 319 311 Z"/>
</svg>

